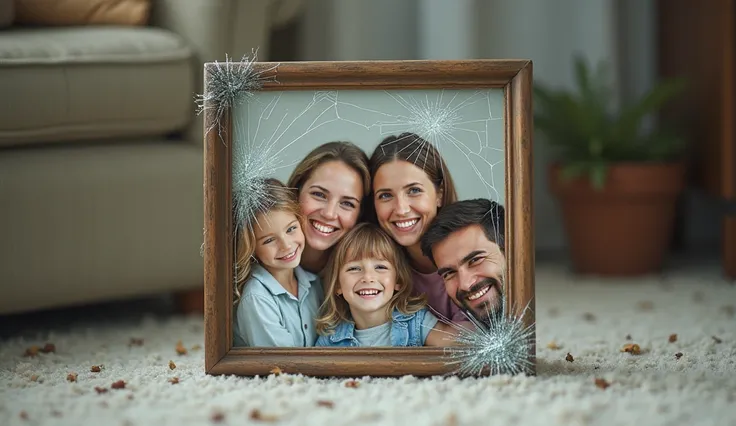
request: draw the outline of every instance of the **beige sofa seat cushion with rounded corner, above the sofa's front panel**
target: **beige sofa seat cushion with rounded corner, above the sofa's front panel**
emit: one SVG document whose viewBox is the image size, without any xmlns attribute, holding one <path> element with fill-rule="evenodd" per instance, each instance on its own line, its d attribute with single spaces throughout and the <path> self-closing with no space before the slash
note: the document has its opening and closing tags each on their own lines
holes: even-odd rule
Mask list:
<svg viewBox="0 0 736 426">
<path fill-rule="evenodd" d="M 0 32 L 0 147 L 162 135 L 193 119 L 192 50 L 153 27 Z"/>
</svg>

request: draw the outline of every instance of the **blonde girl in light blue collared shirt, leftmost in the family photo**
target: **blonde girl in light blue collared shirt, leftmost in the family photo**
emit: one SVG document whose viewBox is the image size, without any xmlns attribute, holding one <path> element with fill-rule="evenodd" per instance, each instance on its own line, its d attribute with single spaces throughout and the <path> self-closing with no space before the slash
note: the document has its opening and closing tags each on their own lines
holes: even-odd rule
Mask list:
<svg viewBox="0 0 736 426">
<path fill-rule="evenodd" d="M 319 278 L 299 266 L 304 219 L 293 190 L 276 179 L 266 187 L 268 208 L 236 235 L 233 344 L 313 346 L 324 293 Z"/>
</svg>

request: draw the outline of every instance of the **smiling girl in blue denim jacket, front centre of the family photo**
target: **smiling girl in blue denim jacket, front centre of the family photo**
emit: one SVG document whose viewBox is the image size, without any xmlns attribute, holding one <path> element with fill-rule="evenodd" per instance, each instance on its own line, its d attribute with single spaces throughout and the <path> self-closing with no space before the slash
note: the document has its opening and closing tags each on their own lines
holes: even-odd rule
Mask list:
<svg viewBox="0 0 736 426">
<path fill-rule="evenodd" d="M 315 346 L 447 346 L 453 330 L 439 323 L 424 295 L 412 296 L 399 247 L 371 223 L 337 244 L 325 270 L 327 297 Z"/>
</svg>

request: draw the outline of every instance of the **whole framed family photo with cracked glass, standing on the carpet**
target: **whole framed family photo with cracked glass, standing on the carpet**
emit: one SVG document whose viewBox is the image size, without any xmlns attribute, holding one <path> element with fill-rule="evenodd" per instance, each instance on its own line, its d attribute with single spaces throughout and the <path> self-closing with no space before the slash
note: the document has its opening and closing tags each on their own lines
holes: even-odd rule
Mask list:
<svg viewBox="0 0 736 426">
<path fill-rule="evenodd" d="M 529 62 L 206 70 L 208 371 L 533 372 Z"/>
</svg>

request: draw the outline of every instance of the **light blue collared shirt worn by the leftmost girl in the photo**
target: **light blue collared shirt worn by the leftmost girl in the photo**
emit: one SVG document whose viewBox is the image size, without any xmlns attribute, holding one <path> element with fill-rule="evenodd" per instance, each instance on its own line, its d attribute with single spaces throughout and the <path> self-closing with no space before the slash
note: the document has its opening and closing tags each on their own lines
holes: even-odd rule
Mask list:
<svg viewBox="0 0 736 426">
<path fill-rule="evenodd" d="M 297 299 L 261 265 L 254 265 L 235 310 L 233 345 L 310 347 L 317 339 L 315 318 L 324 299 L 321 280 L 300 266 L 294 270 Z"/>
</svg>

